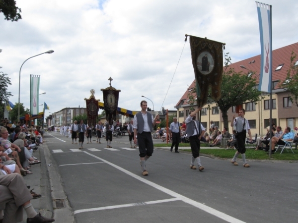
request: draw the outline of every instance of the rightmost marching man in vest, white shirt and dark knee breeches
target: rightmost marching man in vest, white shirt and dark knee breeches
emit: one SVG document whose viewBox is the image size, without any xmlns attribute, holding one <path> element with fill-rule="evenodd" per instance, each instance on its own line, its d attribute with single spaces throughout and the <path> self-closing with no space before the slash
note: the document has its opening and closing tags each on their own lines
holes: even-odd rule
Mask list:
<svg viewBox="0 0 298 223">
<path fill-rule="evenodd" d="M 248 121 L 244 118 L 245 110 L 240 109 L 239 110 L 239 117 L 235 118 L 235 115 L 233 115 L 233 120 L 231 121 L 231 126 L 235 126 L 236 133 L 236 140 L 238 144 L 237 152 L 235 153 L 233 159 L 231 160 L 231 163 L 235 166 L 238 166 L 236 159 L 241 154 L 242 160 L 243 160 L 243 167 L 249 167 L 249 165 L 246 163 L 245 159 L 245 138 L 246 133 L 249 134 L 249 141 L 251 142 L 251 133 L 250 133 L 250 127 Z"/>
</svg>

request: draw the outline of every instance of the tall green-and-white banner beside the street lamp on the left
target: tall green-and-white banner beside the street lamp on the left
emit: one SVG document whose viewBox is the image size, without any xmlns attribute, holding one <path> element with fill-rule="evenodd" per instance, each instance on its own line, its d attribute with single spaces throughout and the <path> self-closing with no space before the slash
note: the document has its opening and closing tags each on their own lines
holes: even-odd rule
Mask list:
<svg viewBox="0 0 298 223">
<path fill-rule="evenodd" d="M 39 106 L 39 79 L 40 75 L 30 75 L 31 77 L 31 90 L 30 90 L 30 110 L 31 114 L 38 114 Z"/>
</svg>

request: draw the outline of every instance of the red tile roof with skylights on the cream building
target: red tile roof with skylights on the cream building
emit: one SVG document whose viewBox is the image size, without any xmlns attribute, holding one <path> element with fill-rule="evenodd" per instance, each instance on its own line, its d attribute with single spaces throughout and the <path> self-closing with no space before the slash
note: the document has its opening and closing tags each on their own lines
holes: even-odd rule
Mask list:
<svg viewBox="0 0 298 223">
<path fill-rule="evenodd" d="M 272 81 L 278 81 L 278 80 L 285 80 L 287 77 L 287 71 L 290 68 L 291 63 L 291 56 L 292 52 L 294 52 L 294 55 L 298 55 L 298 43 L 277 49 L 272 51 Z M 298 57 L 296 57 L 295 61 L 298 60 Z M 275 70 L 280 64 L 284 64 L 282 69 Z M 247 69 L 241 68 L 240 65 L 246 67 Z M 261 55 L 253 56 L 232 64 L 229 64 L 229 67 L 234 68 L 235 72 L 242 71 L 243 74 L 249 73 L 249 71 L 255 72 L 254 77 L 257 79 L 257 84 L 259 83 L 259 75 L 260 75 L 260 66 L 261 66 Z M 195 86 L 195 80 L 190 85 L 189 89 L 193 88 Z M 278 88 L 278 87 L 276 87 Z M 183 94 L 181 99 L 178 101 L 176 106 L 179 106 L 180 102 L 184 100 L 184 103 L 182 105 L 187 105 L 188 102 L 188 90 Z"/>
</svg>

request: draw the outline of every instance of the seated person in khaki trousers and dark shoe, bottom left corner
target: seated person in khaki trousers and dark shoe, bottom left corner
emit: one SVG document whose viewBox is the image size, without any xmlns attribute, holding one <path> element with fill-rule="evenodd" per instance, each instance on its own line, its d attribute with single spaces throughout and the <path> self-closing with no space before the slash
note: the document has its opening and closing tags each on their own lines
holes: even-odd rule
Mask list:
<svg viewBox="0 0 298 223">
<path fill-rule="evenodd" d="M 0 165 L 0 169 L 2 168 L 5 169 L 3 165 Z M 36 213 L 30 202 L 32 198 L 20 174 L 0 174 L 0 222 L 21 222 L 23 220 L 23 208 L 27 213 L 27 223 L 55 222 L 55 219 L 47 219 Z"/>
</svg>

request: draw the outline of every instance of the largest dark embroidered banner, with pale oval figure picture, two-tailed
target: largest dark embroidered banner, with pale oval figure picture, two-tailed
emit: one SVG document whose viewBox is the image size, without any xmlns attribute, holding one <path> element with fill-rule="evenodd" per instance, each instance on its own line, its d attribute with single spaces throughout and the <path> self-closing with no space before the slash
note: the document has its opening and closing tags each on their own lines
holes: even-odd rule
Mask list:
<svg viewBox="0 0 298 223">
<path fill-rule="evenodd" d="M 189 37 L 196 77 L 197 105 L 203 107 L 207 103 L 209 87 L 211 87 L 211 96 L 215 101 L 221 98 L 223 47 L 225 44 L 206 38 Z"/>
</svg>

